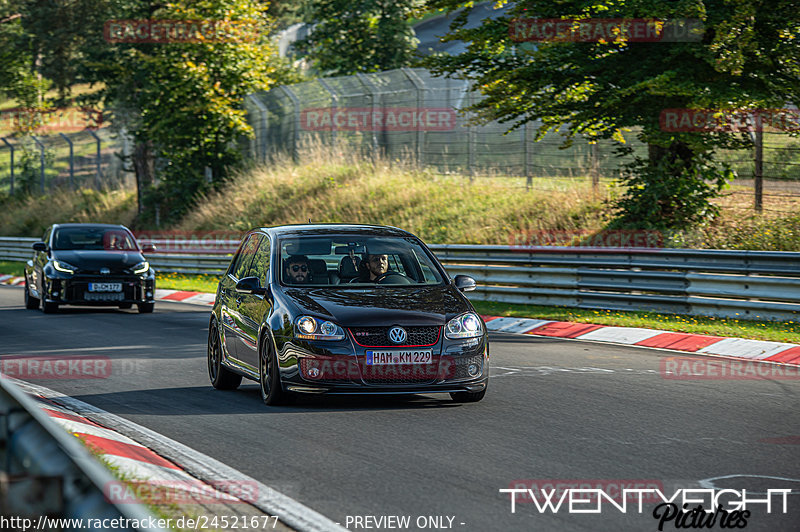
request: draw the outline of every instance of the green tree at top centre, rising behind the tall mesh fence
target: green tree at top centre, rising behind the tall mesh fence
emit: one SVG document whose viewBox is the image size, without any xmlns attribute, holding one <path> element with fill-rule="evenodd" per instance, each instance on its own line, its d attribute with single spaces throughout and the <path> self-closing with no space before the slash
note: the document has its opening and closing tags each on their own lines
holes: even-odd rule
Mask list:
<svg viewBox="0 0 800 532">
<path fill-rule="evenodd" d="M 418 4 L 418 0 L 306 1 L 303 20 L 314 26 L 295 46 L 323 75 L 408 66 L 418 42 L 410 22 Z"/>
</svg>

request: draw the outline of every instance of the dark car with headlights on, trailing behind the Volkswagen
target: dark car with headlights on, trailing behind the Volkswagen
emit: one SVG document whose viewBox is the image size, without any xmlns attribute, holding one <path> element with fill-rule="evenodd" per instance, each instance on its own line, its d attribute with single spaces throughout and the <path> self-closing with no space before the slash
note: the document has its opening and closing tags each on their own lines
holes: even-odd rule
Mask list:
<svg viewBox="0 0 800 532">
<path fill-rule="evenodd" d="M 155 273 L 122 225 L 55 224 L 25 265 L 25 308 L 101 305 L 153 312 Z M 153 251 L 147 246 L 144 251 Z"/>
</svg>

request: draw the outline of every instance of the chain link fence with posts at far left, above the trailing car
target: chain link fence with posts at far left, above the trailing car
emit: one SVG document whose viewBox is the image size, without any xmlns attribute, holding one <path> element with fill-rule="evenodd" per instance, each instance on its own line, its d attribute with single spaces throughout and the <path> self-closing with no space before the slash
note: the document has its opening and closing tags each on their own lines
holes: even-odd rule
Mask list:
<svg viewBox="0 0 800 532">
<path fill-rule="evenodd" d="M 130 188 L 124 157 L 131 144 L 111 128 L 0 137 L 0 193 L 48 193 L 62 188 Z"/>
</svg>

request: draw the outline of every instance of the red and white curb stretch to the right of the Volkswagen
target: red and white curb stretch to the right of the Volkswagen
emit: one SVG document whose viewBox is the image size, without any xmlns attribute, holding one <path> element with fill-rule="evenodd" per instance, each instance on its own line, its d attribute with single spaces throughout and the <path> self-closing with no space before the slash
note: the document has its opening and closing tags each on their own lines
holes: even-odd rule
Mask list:
<svg viewBox="0 0 800 532">
<path fill-rule="evenodd" d="M 655 347 L 800 366 L 800 345 L 797 344 L 530 318 L 483 316 L 483 320 L 486 322 L 486 328 L 494 332 Z"/>
</svg>

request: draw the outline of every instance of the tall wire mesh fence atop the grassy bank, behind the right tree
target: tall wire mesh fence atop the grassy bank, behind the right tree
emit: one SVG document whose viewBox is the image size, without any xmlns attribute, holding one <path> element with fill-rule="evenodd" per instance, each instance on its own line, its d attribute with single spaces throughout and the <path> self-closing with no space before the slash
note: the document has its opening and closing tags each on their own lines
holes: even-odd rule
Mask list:
<svg viewBox="0 0 800 532">
<path fill-rule="evenodd" d="M 568 147 L 559 132 L 535 141 L 538 123 L 508 132 L 508 124 L 475 124 L 462 109 L 479 96 L 464 80 L 434 77 L 425 69 L 322 78 L 276 87 L 246 99 L 256 159 L 276 153 L 300 157 L 304 145 L 344 143 L 367 157 L 380 156 L 464 175 L 536 178 L 618 178 L 632 156 L 618 157 L 611 141 Z M 634 155 L 647 147 L 626 132 Z M 764 132 L 764 196 L 800 197 L 800 138 Z M 718 153 L 737 171 L 736 194 L 752 194 L 753 150 Z M 750 190 L 748 192 L 748 189 Z M 765 208 L 769 202 L 765 199 Z"/>
</svg>

